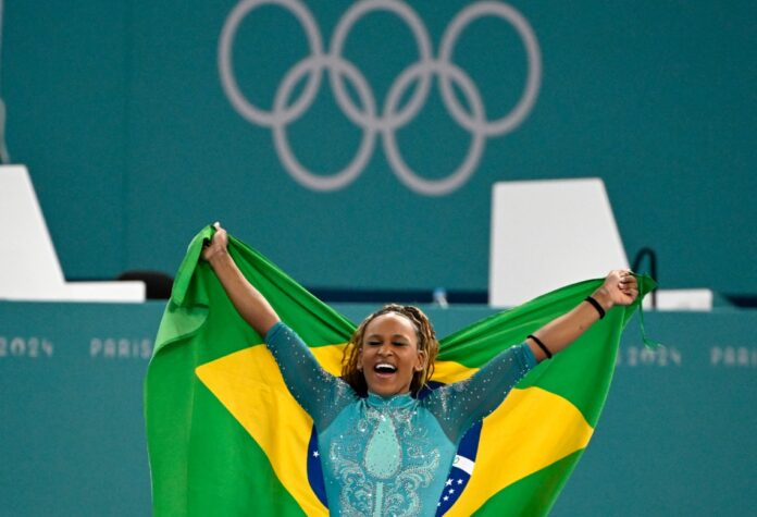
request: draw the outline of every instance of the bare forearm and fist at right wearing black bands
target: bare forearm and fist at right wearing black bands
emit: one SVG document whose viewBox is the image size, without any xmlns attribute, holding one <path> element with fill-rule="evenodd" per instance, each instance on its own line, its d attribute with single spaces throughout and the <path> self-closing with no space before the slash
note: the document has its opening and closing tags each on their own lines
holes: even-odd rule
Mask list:
<svg viewBox="0 0 757 517">
<path fill-rule="evenodd" d="M 557 354 L 573 343 L 592 324 L 599 320 L 600 316 L 609 311 L 616 305 L 630 305 L 638 296 L 636 278 L 628 270 L 618 269 L 610 271 L 605 283 L 597 288 L 592 298 L 599 305 L 595 307 L 590 300 L 582 301 L 578 307 L 533 333 L 534 337 L 526 338 L 526 343 L 534 353 L 537 361 L 547 357 L 546 352 L 538 345 L 541 342 L 550 354 Z M 601 310 L 600 310 L 601 309 Z"/>
</svg>

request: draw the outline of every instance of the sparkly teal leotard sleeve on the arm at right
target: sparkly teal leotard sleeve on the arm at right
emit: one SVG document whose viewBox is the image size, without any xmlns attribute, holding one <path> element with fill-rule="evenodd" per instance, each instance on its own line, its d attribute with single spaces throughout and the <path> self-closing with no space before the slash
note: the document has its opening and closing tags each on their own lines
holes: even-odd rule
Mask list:
<svg viewBox="0 0 757 517">
<path fill-rule="evenodd" d="M 434 390 L 423 404 L 452 443 L 473 423 L 494 411 L 533 367 L 536 358 L 526 344 L 502 350 L 464 381 Z"/>
</svg>

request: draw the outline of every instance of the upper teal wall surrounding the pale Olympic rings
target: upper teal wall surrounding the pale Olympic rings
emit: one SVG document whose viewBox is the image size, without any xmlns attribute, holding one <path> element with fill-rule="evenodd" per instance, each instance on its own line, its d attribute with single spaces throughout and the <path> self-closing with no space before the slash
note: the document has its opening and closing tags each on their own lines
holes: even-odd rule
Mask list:
<svg viewBox="0 0 757 517">
<path fill-rule="evenodd" d="M 494 182 L 600 176 L 626 253 L 655 248 L 663 287 L 757 293 L 757 3 L 513 1 L 542 50 L 536 103 L 487 140 L 462 188 L 433 198 L 395 177 L 381 145 L 343 190 L 293 181 L 270 130 L 243 119 L 221 87 L 219 36 L 235 4 L 5 3 L 8 145 L 29 168 L 67 278 L 173 272 L 197 229 L 221 220 L 311 287 L 485 291 Z M 412 3 L 434 52 L 466 4 Z M 308 5 L 327 44 L 350 2 Z M 306 54 L 291 16 L 255 11 L 235 46 L 240 87 L 270 107 Z M 356 26 L 345 56 L 381 106 L 415 50 L 407 27 L 380 13 Z M 516 102 L 525 61 L 508 25 L 476 22 L 455 61 L 489 118 Z M 320 172 L 344 167 L 360 138 L 326 83 L 288 133 Z M 435 89 L 397 138 L 427 177 L 450 172 L 469 143 Z M 533 253 L 548 244 L 535 236 Z"/>
</svg>

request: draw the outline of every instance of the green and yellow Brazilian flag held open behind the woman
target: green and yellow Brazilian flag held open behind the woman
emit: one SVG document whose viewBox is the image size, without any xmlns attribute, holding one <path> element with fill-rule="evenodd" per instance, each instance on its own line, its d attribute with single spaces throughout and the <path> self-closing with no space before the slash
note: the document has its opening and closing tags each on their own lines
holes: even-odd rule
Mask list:
<svg viewBox="0 0 757 517">
<path fill-rule="evenodd" d="M 260 335 L 208 263 L 208 226 L 189 245 L 145 382 L 157 516 L 328 514 L 311 418 L 289 394 Z M 229 237 L 245 276 L 338 376 L 356 325 L 260 254 Z M 462 380 L 569 311 L 601 280 L 541 296 L 442 340 L 433 381 Z M 642 293 L 654 288 L 640 279 Z M 612 378 L 620 333 L 641 304 L 616 307 L 543 361 L 462 440 L 437 515 L 545 515 L 588 444 Z"/>
</svg>

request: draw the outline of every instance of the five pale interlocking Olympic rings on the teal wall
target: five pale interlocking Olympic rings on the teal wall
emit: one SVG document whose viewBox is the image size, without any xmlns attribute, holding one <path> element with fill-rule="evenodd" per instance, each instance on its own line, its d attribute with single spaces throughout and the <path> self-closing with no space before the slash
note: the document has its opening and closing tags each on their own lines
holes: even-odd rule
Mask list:
<svg viewBox="0 0 757 517">
<path fill-rule="evenodd" d="M 247 100 L 236 83 L 232 65 L 234 38 L 241 21 L 255 9 L 265 4 L 288 10 L 302 26 L 310 48 L 310 57 L 302 59 L 285 74 L 276 90 L 271 111 L 264 111 Z M 353 63 L 342 57 L 345 40 L 352 26 L 373 11 L 387 11 L 398 16 L 410 28 L 418 50 L 418 61 L 395 78 L 381 110 L 365 76 Z M 511 24 L 523 41 L 529 63 L 525 85 L 518 103 L 509 113 L 493 121 L 485 118 L 486 110 L 475 83 L 451 61 L 454 48 L 462 32 L 482 16 L 496 16 Z M 401 0 L 363 0 L 355 3 L 337 23 L 328 49 L 328 53 L 324 53 L 315 19 L 302 0 L 241 0 L 228 14 L 219 40 L 219 72 L 224 93 L 232 106 L 246 120 L 272 130 L 276 152 L 284 168 L 297 182 L 313 190 L 336 190 L 355 181 L 373 153 L 376 136 L 381 135 L 384 153 L 393 172 L 409 188 L 426 196 L 442 196 L 455 192 L 475 172 L 484 152 L 486 138 L 509 133 L 525 120 L 536 101 L 542 81 L 541 51 L 533 29 L 520 12 L 498 1 L 479 1 L 462 9 L 447 26 L 436 59 L 432 56 L 431 38 L 422 20 Z M 363 131 L 355 158 L 345 169 L 330 175 L 313 174 L 302 167 L 291 151 L 286 133 L 286 126 L 301 116 L 314 101 L 324 71 L 328 73 L 337 106 Z M 289 102 L 295 86 L 305 75 L 308 75 L 305 88 L 296 100 Z M 395 132 L 418 115 L 426 101 L 434 75 L 439 79 L 444 106 L 450 116 L 471 134 L 471 144 L 456 171 L 446 177 L 431 180 L 419 176 L 406 164 Z M 356 106 L 350 99 L 345 88 L 345 78 L 357 91 L 361 107 Z M 400 109 L 399 102 L 404 94 L 415 82 L 418 86 L 414 93 Z M 451 83 L 457 84 L 466 97 L 470 113 L 456 98 Z"/>
</svg>

